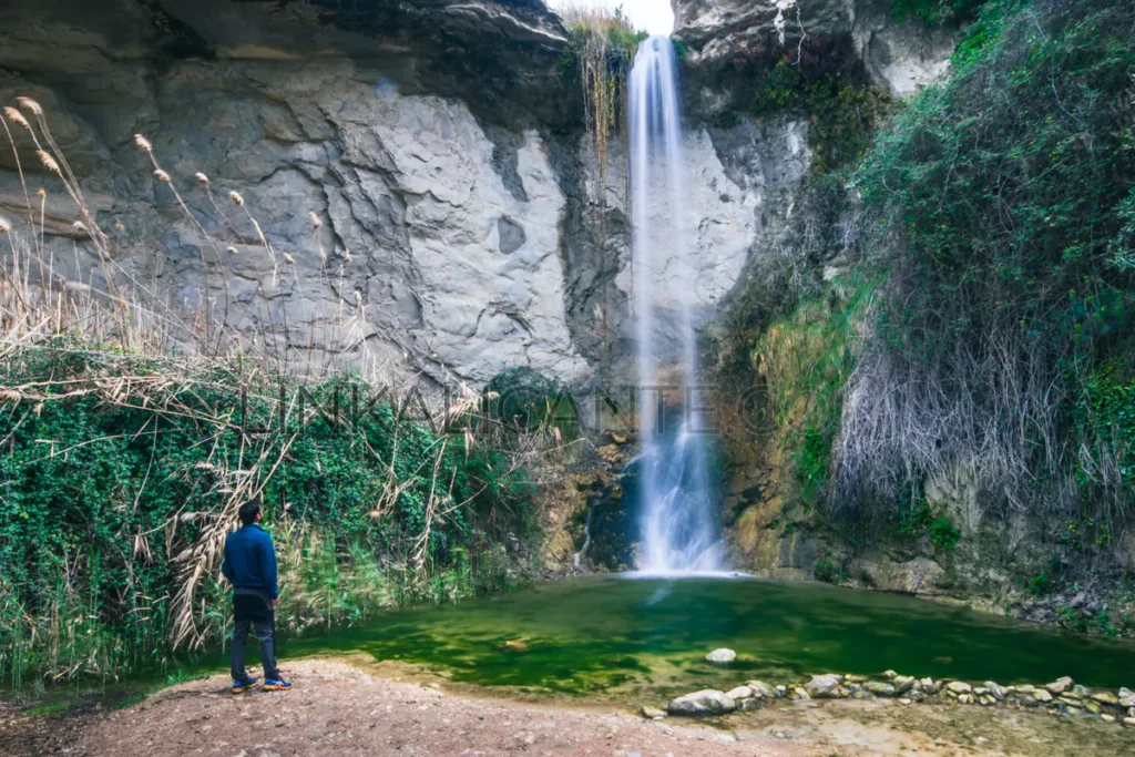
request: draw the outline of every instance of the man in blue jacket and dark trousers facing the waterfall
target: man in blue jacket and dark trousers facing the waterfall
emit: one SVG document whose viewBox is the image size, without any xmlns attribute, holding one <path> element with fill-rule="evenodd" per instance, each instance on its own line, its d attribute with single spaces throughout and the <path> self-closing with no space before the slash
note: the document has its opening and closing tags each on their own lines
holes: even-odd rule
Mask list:
<svg viewBox="0 0 1135 757">
<path fill-rule="evenodd" d="M 244 642 L 249 626 L 257 629 L 260 659 L 264 665 L 264 690 L 287 691 L 292 684 L 276 667 L 276 613 L 279 588 L 276 586 L 276 548 L 272 538 L 260 528 L 263 514 L 255 502 L 241 505 L 241 528 L 225 539 L 225 561 L 220 572 L 233 584 L 233 693 L 260 685 L 244 671 Z"/>
</svg>

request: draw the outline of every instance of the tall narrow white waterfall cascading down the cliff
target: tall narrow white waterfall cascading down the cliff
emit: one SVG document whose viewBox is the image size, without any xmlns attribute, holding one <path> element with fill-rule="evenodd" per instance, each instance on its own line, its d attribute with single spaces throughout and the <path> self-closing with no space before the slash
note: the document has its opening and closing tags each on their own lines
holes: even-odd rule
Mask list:
<svg viewBox="0 0 1135 757">
<path fill-rule="evenodd" d="M 682 132 L 674 49 L 651 36 L 639 45 L 629 86 L 634 309 L 639 373 L 641 539 L 647 573 L 720 570 L 716 512 L 697 411 L 697 351 L 691 302 L 697 274 L 682 222 Z M 659 268 L 669 269 L 659 276 Z M 661 281 L 676 283 L 659 286 Z M 670 291 L 661 291 L 663 287 Z M 659 302 L 676 304 L 663 319 Z M 669 314 L 669 313 L 667 313 Z M 666 320 L 665 329 L 663 321 Z M 672 322 L 670 322 L 672 321 Z M 669 344 L 661 338 L 670 336 Z M 673 333 L 679 343 L 673 345 Z M 669 353 L 669 354 L 667 354 Z M 676 353 L 676 354 L 675 354 Z M 659 361 L 681 362 L 682 420 L 674 430 L 658 389 Z"/>
</svg>

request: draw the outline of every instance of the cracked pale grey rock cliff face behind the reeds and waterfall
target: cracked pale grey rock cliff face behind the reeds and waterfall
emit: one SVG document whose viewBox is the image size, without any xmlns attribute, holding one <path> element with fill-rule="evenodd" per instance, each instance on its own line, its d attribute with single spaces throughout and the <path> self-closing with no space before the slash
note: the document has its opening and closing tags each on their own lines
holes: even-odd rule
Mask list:
<svg viewBox="0 0 1135 757">
<path fill-rule="evenodd" d="M 116 286 L 186 330 L 208 302 L 234 339 L 295 361 L 438 384 L 523 364 L 583 386 L 630 351 L 628 177 L 613 145 L 595 185 L 581 101 L 556 70 L 564 44 L 539 0 L 18 0 L 0 10 L 0 100 L 43 104 Z M 104 289 L 77 209 L 14 136 L 47 190 L 50 267 Z M 698 128 L 687 143 L 707 317 L 805 174 L 806 129 Z M 24 218 L 2 152 L 0 212 Z"/>
</svg>

